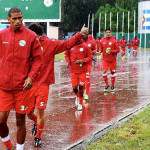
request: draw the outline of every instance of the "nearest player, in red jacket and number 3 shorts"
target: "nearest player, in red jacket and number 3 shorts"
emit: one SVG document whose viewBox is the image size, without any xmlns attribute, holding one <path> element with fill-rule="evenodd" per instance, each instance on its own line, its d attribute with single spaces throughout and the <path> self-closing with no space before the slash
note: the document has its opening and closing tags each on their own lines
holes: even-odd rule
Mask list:
<svg viewBox="0 0 150 150">
<path fill-rule="evenodd" d="M 40 73 L 43 57 L 37 35 L 24 27 L 19 8 L 11 8 L 10 27 L 0 31 L 0 136 L 6 150 L 14 146 L 9 137 L 7 119 L 16 111 L 17 150 L 23 150 L 26 137 L 25 116 L 34 106 L 32 82 Z"/>
</svg>

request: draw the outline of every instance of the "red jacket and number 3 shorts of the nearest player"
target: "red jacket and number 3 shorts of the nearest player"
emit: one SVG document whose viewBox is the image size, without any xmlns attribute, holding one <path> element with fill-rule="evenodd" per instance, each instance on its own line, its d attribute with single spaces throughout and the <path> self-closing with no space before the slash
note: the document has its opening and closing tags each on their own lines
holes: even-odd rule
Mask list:
<svg viewBox="0 0 150 150">
<path fill-rule="evenodd" d="M 34 105 L 31 90 L 23 90 L 25 80 L 35 81 L 43 63 L 37 35 L 23 25 L 0 31 L 0 111 L 15 109 L 25 114 Z"/>
</svg>

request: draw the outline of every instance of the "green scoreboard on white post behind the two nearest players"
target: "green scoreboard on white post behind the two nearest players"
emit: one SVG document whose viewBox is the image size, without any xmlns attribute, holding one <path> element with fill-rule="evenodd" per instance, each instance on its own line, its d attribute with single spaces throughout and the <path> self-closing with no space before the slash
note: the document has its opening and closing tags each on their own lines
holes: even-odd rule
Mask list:
<svg viewBox="0 0 150 150">
<path fill-rule="evenodd" d="M 18 7 L 24 15 L 24 24 L 39 22 L 49 38 L 59 38 L 58 23 L 61 21 L 61 0 L 0 0 L 0 23 L 8 24 L 11 7 Z"/>
</svg>

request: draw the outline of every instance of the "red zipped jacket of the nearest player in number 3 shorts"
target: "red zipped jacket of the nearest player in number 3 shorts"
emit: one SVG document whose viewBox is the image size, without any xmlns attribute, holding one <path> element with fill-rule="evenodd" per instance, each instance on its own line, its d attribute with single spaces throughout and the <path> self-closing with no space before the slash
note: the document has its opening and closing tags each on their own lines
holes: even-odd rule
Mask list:
<svg viewBox="0 0 150 150">
<path fill-rule="evenodd" d="M 43 64 L 36 34 L 23 25 L 0 31 L 0 89 L 23 90 L 25 80 L 35 80 Z"/>
</svg>

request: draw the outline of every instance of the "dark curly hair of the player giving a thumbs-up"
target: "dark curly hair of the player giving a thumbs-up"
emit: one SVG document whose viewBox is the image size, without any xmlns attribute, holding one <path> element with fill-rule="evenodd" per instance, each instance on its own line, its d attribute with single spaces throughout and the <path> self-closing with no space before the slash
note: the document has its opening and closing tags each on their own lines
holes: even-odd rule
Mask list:
<svg viewBox="0 0 150 150">
<path fill-rule="evenodd" d="M 31 23 L 28 29 L 32 30 L 37 35 L 42 35 L 44 33 L 44 29 L 39 23 Z"/>
</svg>

